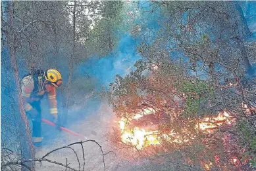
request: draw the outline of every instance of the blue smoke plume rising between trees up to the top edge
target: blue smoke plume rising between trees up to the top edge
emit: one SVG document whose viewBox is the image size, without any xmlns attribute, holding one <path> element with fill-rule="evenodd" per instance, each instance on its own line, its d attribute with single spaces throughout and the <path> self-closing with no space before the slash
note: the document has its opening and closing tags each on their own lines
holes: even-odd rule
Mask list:
<svg viewBox="0 0 256 171">
<path fill-rule="evenodd" d="M 141 1 L 138 3 L 138 8 L 151 10 L 151 2 Z M 74 75 L 95 77 L 99 83 L 97 84 L 98 87 L 108 88 L 116 75 L 125 76 L 130 73 L 130 71 L 135 69 L 134 64 L 136 61 L 141 59 L 140 54 L 137 52 L 138 45 L 140 45 L 142 40 L 151 45 L 161 28 L 158 21 L 163 16 L 157 13 L 159 13 L 159 10 L 153 14 L 151 12 L 141 14 L 140 18 L 134 20 L 134 25 L 140 24 L 141 28 L 145 28 L 145 31 L 141 31 L 136 37 L 132 37 L 129 33 L 119 32 L 118 35 L 122 36 L 116 49 L 111 54 L 89 58 L 84 64 L 76 67 Z M 141 20 L 144 22 L 141 23 Z M 143 37 L 147 37 L 147 39 L 145 40 Z"/>
</svg>

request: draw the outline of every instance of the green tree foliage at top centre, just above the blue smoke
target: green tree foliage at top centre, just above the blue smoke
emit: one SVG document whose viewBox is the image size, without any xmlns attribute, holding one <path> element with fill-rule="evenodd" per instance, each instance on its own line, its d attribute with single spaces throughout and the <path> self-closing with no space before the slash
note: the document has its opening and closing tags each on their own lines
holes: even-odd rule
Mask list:
<svg viewBox="0 0 256 171">
<path fill-rule="evenodd" d="M 94 54 L 105 56 L 112 52 L 119 37 L 122 26 L 123 1 L 103 1 L 101 19 L 95 22 L 95 26 L 88 33 L 87 45 Z"/>
</svg>

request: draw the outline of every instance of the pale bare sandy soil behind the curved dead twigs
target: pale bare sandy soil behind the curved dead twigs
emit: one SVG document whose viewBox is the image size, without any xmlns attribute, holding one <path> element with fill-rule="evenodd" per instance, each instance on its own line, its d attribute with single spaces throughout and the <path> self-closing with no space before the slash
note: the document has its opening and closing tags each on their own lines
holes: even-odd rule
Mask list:
<svg viewBox="0 0 256 171">
<path fill-rule="evenodd" d="M 130 170 L 128 165 L 130 164 L 128 161 L 124 161 L 121 159 L 118 154 L 118 149 L 113 149 L 111 143 L 107 140 L 107 135 L 111 132 L 111 126 L 116 126 L 115 124 L 115 115 L 111 107 L 107 104 L 101 105 L 99 111 L 95 111 L 95 114 L 86 117 L 84 121 L 78 121 L 76 124 L 69 126 L 70 130 L 74 132 L 78 132 L 86 136 L 84 140 L 95 140 L 98 142 L 103 149 L 103 153 L 107 153 L 109 151 L 113 151 L 114 153 L 108 153 L 105 155 L 105 169 L 106 170 Z M 61 132 L 53 145 L 49 147 L 41 147 L 40 149 L 36 149 L 36 157 L 40 158 L 45 155 L 47 152 L 55 149 L 57 147 L 63 147 L 64 145 L 68 145 L 70 143 L 79 142 L 82 138 L 72 136 L 67 134 L 66 132 Z M 78 158 L 80 160 L 80 168 L 82 169 L 84 166 L 84 161 L 82 157 L 82 148 L 81 145 L 73 145 L 72 146 L 76 153 L 78 154 Z M 103 156 L 101 153 L 101 149 L 99 145 L 94 142 L 84 143 L 84 155 L 85 155 L 85 166 L 84 170 L 104 170 Z M 59 151 L 55 151 L 51 153 L 46 159 L 51 161 L 62 162 L 66 164 L 66 159 L 68 159 L 68 166 L 72 168 L 76 168 L 79 170 L 79 164 L 76 159 L 76 155 L 71 149 L 61 149 Z M 36 165 L 36 170 L 65 170 L 63 166 L 58 166 L 56 164 L 51 164 L 48 162 L 42 162 L 42 164 Z"/>
</svg>

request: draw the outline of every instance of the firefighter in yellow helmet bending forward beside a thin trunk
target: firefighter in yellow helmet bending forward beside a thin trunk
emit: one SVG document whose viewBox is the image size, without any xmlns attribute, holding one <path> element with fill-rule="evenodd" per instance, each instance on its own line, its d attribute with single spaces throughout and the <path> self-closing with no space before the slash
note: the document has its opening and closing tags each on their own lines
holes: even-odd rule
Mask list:
<svg viewBox="0 0 256 171">
<path fill-rule="evenodd" d="M 63 79 L 56 69 L 33 69 L 22 79 L 22 97 L 28 118 L 32 119 L 32 142 L 41 146 L 41 107 L 40 101 L 45 94 L 48 95 L 49 111 L 53 122 L 59 125 L 56 100 L 56 88 L 61 86 Z"/>
</svg>

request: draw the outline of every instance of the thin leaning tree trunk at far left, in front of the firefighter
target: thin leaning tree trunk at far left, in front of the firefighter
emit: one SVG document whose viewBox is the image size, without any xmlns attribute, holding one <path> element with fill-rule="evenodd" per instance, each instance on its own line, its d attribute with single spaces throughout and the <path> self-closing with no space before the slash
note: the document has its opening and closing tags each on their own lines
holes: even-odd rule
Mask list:
<svg viewBox="0 0 256 171">
<path fill-rule="evenodd" d="M 22 93 L 21 93 L 21 87 L 20 87 L 20 81 L 18 78 L 18 66 L 16 64 L 16 58 L 15 58 L 15 34 L 14 34 L 14 28 L 13 28 L 13 14 L 14 14 L 14 1 L 5 1 L 6 7 L 8 7 L 8 18 L 7 22 L 9 22 L 9 29 L 7 30 L 7 48 L 9 48 L 11 55 L 11 68 L 13 71 L 13 77 L 14 77 L 14 84 L 16 86 L 17 90 L 17 98 L 18 98 L 18 110 L 20 113 L 20 116 L 18 117 L 20 120 L 20 124 L 18 124 L 18 138 L 20 140 L 20 151 L 23 160 L 28 159 L 34 159 L 34 148 L 32 144 L 32 137 L 30 134 L 30 128 L 28 124 L 28 119 L 26 117 L 24 105 L 23 105 L 23 99 L 22 99 Z M 16 115 L 14 113 L 14 115 Z M 26 134 L 22 131 L 24 130 Z M 31 170 L 34 170 L 34 162 L 27 163 L 27 166 L 31 168 Z M 27 170 L 26 168 L 22 167 L 22 170 Z"/>
</svg>

